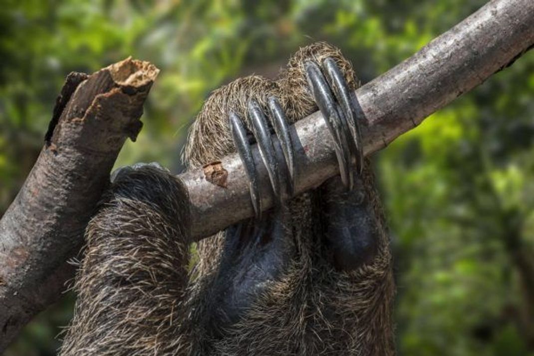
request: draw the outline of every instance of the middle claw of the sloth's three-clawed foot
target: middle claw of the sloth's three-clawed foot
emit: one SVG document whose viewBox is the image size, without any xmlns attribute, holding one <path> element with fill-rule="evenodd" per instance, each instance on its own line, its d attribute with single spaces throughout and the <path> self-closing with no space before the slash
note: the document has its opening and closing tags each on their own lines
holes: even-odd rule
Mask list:
<svg viewBox="0 0 534 356">
<path fill-rule="evenodd" d="M 248 113 L 250 115 L 250 121 L 252 121 L 253 134 L 256 138 L 258 148 L 260 149 L 260 156 L 262 157 L 263 164 L 265 165 L 265 168 L 267 168 L 267 173 L 269 174 L 274 197 L 281 200 L 282 195 L 280 191 L 278 162 L 276 151 L 274 151 L 272 145 L 267 118 L 265 118 L 262 108 L 255 100 L 250 100 L 248 103 Z"/>
</svg>

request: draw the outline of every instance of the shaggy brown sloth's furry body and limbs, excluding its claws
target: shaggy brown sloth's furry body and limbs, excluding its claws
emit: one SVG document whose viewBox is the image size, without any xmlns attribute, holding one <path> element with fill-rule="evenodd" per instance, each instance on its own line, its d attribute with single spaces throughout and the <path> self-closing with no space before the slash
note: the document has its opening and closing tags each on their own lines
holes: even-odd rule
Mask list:
<svg viewBox="0 0 534 356">
<path fill-rule="evenodd" d="M 326 43 L 302 48 L 277 80 L 215 90 L 183 158 L 198 168 L 236 151 L 229 113 L 276 97 L 290 123 L 318 110 L 305 64 L 351 64 Z M 392 355 L 389 238 L 370 161 L 347 190 L 333 177 L 192 249 L 186 192 L 156 165 L 124 168 L 86 231 L 67 355 Z"/>
</svg>

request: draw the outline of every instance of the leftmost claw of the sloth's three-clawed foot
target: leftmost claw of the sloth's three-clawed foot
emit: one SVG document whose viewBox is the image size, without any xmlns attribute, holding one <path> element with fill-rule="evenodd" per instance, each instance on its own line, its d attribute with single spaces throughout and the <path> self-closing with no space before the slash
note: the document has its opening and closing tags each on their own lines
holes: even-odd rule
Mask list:
<svg viewBox="0 0 534 356">
<path fill-rule="evenodd" d="M 258 184 L 258 175 L 256 171 L 256 165 L 254 164 L 254 157 L 252 156 L 252 150 L 247 139 L 247 131 L 241 123 L 239 116 L 233 112 L 230 113 L 230 130 L 232 131 L 232 137 L 235 144 L 235 149 L 238 151 L 241 161 L 245 166 L 245 172 L 248 176 L 250 200 L 252 201 L 252 207 L 254 208 L 254 214 L 257 219 L 261 219 L 262 206 L 260 197 L 260 188 Z"/>
</svg>

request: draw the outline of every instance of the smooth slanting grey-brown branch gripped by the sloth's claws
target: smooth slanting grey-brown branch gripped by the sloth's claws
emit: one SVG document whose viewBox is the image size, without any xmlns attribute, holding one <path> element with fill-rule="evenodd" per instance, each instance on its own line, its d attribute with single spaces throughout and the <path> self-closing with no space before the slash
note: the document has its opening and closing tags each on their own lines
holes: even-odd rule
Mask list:
<svg viewBox="0 0 534 356">
<path fill-rule="evenodd" d="M 508 66 L 533 44 L 534 1 L 490 1 L 355 92 L 365 154 L 384 148 L 431 113 Z M 333 138 L 319 112 L 297 122 L 291 134 L 296 143 L 297 194 L 339 174 Z M 257 148 L 254 154 L 262 206 L 269 208 L 273 195 L 268 174 Z M 225 157 L 216 166 L 218 171 L 226 171 L 226 188 L 211 183 L 213 179 L 206 179 L 202 169 L 178 176 L 189 191 L 195 239 L 254 215 L 239 156 Z"/>
</svg>

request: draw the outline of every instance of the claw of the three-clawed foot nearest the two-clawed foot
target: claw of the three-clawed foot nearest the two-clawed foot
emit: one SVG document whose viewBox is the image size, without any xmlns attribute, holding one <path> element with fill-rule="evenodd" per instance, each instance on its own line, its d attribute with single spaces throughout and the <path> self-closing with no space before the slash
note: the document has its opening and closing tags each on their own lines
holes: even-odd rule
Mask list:
<svg viewBox="0 0 534 356">
<path fill-rule="evenodd" d="M 295 151 L 293 149 L 293 142 L 291 135 L 289 135 L 289 125 L 287 123 L 286 114 L 282 110 L 282 106 L 276 97 L 269 98 L 269 111 L 271 112 L 274 132 L 280 141 L 282 152 L 286 160 L 287 171 L 289 173 L 288 180 L 288 195 L 293 196 L 295 187 Z"/>
</svg>

